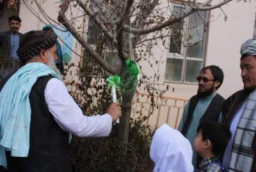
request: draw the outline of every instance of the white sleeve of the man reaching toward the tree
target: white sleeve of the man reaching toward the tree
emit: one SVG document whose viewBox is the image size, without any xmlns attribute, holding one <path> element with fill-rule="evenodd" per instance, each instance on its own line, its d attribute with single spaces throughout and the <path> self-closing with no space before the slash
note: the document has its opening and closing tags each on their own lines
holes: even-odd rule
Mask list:
<svg viewBox="0 0 256 172">
<path fill-rule="evenodd" d="M 112 117 L 108 113 L 84 116 L 61 80 L 51 78 L 45 87 L 44 95 L 49 111 L 63 130 L 79 137 L 109 135 Z"/>
</svg>

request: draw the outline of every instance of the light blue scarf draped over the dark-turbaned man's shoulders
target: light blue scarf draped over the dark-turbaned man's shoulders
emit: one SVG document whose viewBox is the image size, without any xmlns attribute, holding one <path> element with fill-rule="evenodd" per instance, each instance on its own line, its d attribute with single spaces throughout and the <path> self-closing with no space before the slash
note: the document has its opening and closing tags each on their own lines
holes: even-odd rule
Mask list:
<svg viewBox="0 0 256 172">
<path fill-rule="evenodd" d="M 0 92 L 0 165 L 6 168 L 5 150 L 28 157 L 31 108 L 29 94 L 40 76 L 59 76 L 47 65 L 32 62 L 20 68 Z"/>
</svg>

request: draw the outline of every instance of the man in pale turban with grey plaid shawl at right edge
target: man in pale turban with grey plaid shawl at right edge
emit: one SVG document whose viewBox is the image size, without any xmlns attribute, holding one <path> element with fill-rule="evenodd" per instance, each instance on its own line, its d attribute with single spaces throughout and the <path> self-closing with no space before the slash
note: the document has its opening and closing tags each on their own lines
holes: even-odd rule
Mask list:
<svg viewBox="0 0 256 172">
<path fill-rule="evenodd" d="M 256 171 L 256 39 L 241 46 L 241 77 L 244 89 L 228 97 L 223 122 L 232 137 L 223 157 L 227 171 Z"/>
</svg>

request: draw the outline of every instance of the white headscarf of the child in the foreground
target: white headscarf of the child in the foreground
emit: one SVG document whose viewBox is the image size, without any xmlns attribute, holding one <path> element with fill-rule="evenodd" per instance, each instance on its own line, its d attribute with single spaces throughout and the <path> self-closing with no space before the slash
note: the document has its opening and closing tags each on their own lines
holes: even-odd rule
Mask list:
<svg viewBox="0 0 256 172">
<path fill-rule="evenodd" d="M 150 147 L 153 172 L 193 172 L 192 154 L 189 141 L 179 131 L 167 124 L 156 130 Z"/>
</svg>

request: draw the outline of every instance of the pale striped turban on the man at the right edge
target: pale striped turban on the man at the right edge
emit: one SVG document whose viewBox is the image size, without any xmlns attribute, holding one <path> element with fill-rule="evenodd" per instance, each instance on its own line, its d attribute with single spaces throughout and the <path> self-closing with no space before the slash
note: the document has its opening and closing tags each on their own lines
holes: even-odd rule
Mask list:
<svg viewBox="0 0 256 172">
<path fill-rule="evenodd" d="M 256 39 L 248 39 L 241 45 L 240 54 L 256 55 Z"/>
</svg>

